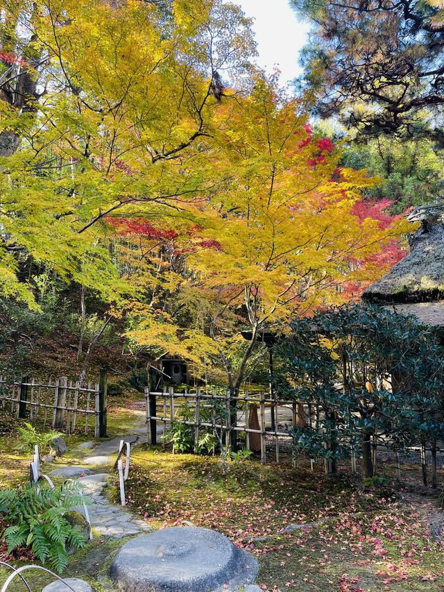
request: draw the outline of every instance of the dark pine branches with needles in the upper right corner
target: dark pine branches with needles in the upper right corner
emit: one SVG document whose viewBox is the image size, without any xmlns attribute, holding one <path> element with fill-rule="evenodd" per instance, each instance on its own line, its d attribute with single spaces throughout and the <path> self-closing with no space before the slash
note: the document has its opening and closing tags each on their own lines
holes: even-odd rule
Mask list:
<svg viewBox="0 0 444 592">
<path fill-rule="evenodd" d="M 364 136 L 444 144 L 442 10 L 438 2 L 293 0 L 314 25 L 300 81 L 321 117 Z"/>
</svg>

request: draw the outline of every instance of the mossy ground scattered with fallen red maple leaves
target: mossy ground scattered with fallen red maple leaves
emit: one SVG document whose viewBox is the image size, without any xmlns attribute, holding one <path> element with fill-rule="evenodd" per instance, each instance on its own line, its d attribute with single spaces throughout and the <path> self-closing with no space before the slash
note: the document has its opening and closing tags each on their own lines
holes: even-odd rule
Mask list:
<svg viewBox="0 0 444 592">
<path fill-rule="evenodd" d="M 143 399 L 110 401 L 110 435 L 143 425 Z M 29 455 L 17 451 L 14 418 L 0 410 L 1 487 L 26 480 Z M 61 464 L 81 462 L 75 451 L 91 434 L 73 434 Z M 128 509 L 153 527 L 195 524 L 230 536 L 257 557 L 264 591 L 444 591 L 444 554 L 432 539 L 431 498 L 402 489 L 363 488 L 349 477 L 325 477 L 305 466 L 257 459 L 230 462 L 223 475 L 217 457 L 172 455 L 161 446 L 136 446 L 126 483 Z M 117 499 L 117 490 L 110 488 Z M 298 525 L 287 532 L 289 525 Z M 112 591 L 106 573 L 122 541 L 96 539 L 71 557 L 65 575 L 78 575 L 97 592 Z M 27 559 L 23 557 L 23 559 Z M 20 561 L 16 561 L 20 563 Z M 6 572 L 0 570 L 0 582 Z M 33 590 L 48 582 L 33 574 Z M 13 590 L 22 592 L 17 584 Z"/>
</svg>

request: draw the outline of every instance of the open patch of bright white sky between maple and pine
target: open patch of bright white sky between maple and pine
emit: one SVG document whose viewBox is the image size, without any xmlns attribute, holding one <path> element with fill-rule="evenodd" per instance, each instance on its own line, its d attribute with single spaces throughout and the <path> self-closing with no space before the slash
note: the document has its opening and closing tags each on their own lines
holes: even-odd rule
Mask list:
<svg viewBox="0 0 444 592">
<path fill-rule="evenodd" d="M 298 54 L 307 42 L 309 24 L 298 22 L 288 0 L 233 0 L 248 17 L 255 19 L 259 66 L 268 73 L 278 67 L 283 85 L 300 74 Z"/>
</svg>

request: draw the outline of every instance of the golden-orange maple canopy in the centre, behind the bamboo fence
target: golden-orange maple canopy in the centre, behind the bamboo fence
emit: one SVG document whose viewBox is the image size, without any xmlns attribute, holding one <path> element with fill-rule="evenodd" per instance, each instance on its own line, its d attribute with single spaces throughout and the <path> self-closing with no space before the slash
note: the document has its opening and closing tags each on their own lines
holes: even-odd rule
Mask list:
<svg viewBox="0 0 444 592">
<path fill-rule="evenodd" d="M 259 76 L 251 94 L 222 103 L 214 141 L 210 159 L 230 177 L 208 203 L 195 205 L 194 248 L 179 274 L 171 258 L 167 309 L 149 303 L 130 336 L 152 344 L 169 335 L 170 347 L 176 341 L 182 354 L 187 343 L 200 343 L 202 362 L 218 360 L 230 387 L 239 389 L 261 335 L 348 300 L 352 285 L 358 296 L 359 286 L 388 269 L 389 258 L 379 255 L 405 222 L 357 205 L 360 191 L 377 180 L 339 168 L 340 146 L 315 137 L 301 104 L 278 91 L 273 79 Z M 184 247 L 177 251 L 183 242 L 177 237 L 176 253 L 185 253 Z M 176 325 L 178 298 L 188 299 L 182 314 L 193 303 L 191 339 Z M 248 343 L 242 328 L 249 329 Z"/>
</svg>

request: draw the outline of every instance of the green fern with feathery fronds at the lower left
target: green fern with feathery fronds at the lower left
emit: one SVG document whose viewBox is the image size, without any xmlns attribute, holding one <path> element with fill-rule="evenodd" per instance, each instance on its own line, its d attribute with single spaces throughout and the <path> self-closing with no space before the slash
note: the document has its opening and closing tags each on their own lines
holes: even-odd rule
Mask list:
<svg viewBox="0 0 444 592">
<path fill-rule="evenodd" d="M 67 548 L 79 549 L 85 536 L 71 525 L 65 514 L 82 504 L 83 496 L 75 482 L 50 489 L 26 484 L 18 489 L 0 491 L 0 513 L 9 524 L 1 538 L 8 554 L 17 547 L 31 548 L 37 559 L 51 562 L 61 573 L 67 565 Z"/>
</svg>

